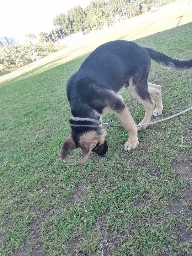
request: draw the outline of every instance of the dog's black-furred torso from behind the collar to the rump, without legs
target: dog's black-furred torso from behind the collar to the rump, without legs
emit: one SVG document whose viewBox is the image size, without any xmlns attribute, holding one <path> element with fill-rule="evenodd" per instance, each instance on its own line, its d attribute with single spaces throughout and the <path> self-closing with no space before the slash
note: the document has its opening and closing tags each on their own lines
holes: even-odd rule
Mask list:
<svg viewBox="0 0 192 256">
<path fill-rule="evenodd" d="M 108 91 L 116 93 L 128 86 L 130 77 L 148 73 L 150 63 L 147 51 L 134 42 L 117 40 L 100 45 L 67 83 L 72 115 L 78 116 L 80 111 L 82 116 L 88 116 L 93 101 L 101 113 Z"/>
</svg>

